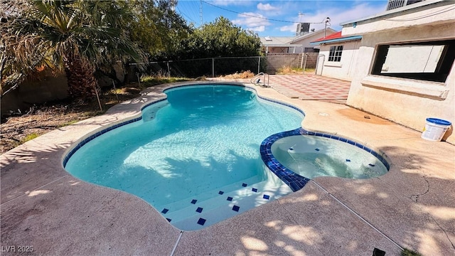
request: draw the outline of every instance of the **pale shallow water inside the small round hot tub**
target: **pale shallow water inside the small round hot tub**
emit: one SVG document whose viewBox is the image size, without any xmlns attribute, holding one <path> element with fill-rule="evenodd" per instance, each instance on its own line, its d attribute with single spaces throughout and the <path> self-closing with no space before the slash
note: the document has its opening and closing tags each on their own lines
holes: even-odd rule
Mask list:
<svg viewBox="0 0 455 256">
<path fill-rule="evenodd" d="M 368 151 L 326 137 L 284 137 L 271 150 L 280 164 L 306 178 L 373 178 L 387 173 L 387 167 Z"/>
</svg>

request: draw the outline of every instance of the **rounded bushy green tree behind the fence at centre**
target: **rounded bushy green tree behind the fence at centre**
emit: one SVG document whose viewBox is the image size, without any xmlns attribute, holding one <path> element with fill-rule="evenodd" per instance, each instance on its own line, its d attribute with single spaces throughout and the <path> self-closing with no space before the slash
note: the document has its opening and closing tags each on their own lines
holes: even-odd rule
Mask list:
<svg viewBox="0 0 455 256">
<path fill-rule="evenodd" d="M 235 26 L 223 16 L 196 29 L 183 41 L 186 58 L 244 57 L 259 55 L 257 34 Z"/>
</svg>

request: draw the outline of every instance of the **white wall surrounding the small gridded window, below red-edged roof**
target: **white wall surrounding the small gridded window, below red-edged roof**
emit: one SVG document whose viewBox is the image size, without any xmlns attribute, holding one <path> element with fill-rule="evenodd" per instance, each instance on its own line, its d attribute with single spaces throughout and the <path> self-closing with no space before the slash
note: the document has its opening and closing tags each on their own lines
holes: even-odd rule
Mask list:
<svg viewBox="0 0 455 256">
<path fill-rule="evenodd" d="M 328 61 L 328 53 L 331 46 L 343 46 L 343 53 L 341 53 L 341 61 Z M 322 65 L 322 75 L 329 78 L 338 78 L 343 80 L 352 80 L 353 67 L 357 60 L 358 48 L 360 41 L 348 41 L 340 43 L 331 43 L 321 46 L 319 54 L 325 56 Z"/>
</svg>

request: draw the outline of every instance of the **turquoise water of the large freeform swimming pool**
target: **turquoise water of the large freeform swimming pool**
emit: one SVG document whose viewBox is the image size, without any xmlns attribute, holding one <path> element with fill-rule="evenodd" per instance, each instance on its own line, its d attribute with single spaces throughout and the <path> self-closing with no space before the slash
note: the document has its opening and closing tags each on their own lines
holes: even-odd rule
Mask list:
<svg viewBox="0 0 455 256">
<path fill-rule="evenodd" d="M 247 87 L 184 86 L 74 152 L 65 169 L 132 193 L 182 230 L 196 230 L 291 190 L 268 171 L 259 146 L 300 127 L 304 115 Z"/>
</svg>

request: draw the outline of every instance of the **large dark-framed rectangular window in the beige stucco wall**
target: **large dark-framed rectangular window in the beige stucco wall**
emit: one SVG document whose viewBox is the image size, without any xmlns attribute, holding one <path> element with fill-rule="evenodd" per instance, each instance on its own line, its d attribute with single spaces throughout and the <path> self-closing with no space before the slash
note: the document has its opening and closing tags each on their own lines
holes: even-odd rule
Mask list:
<svg viewBox="0 0 455 256">
<path fill-rule="evenodd" d="M 455 40 L 378 46 L 373 75 L 445 82 L 455 59 Z"/>
</svg>

